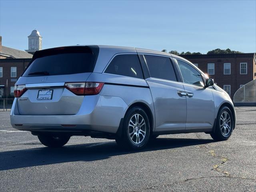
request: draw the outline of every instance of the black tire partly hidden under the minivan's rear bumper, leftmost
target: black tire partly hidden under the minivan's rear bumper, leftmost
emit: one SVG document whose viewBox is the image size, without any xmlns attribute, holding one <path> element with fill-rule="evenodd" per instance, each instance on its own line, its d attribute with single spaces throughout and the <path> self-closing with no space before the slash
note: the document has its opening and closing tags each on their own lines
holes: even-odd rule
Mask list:
<svg viewBox="0 0 256 192">
<path fill-rule="evenodd" d="M 47 147 L 57 148 L 64 146 L 70 136 L 68 135 L 52 135 L 52 134 L 41 134 L 38 135 L 40 142 Z"/>
</svg>

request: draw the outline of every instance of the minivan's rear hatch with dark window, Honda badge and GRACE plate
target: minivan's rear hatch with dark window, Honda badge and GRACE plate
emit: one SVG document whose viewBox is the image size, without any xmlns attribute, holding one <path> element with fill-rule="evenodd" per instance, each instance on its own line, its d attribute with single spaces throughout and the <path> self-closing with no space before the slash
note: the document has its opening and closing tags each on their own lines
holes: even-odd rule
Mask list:
<svg viewBox="0 0 256 192">
<path fill-rule="evenodd" d="M 41 50 L 16 83 L 14 95 L 21 115 L 76 114 L 82 90 L 94 70 L 98 46 Z M 81 92 L 82 91 L 82 92 Z"/>
</svg>

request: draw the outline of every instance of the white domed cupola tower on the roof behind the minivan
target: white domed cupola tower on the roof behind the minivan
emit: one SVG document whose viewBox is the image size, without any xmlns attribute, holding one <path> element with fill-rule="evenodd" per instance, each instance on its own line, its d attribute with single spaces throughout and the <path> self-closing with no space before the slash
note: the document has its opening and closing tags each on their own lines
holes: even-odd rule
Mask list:
<svg viewBox="0 0 256 192">
<path fill-rule="evenodd" d="M 42 36 L 38 30 L 33 30 L 28 36 L 28 50 L 26 52 L 34 54 L 34 52 L 42 49 Z"/>
</svg>

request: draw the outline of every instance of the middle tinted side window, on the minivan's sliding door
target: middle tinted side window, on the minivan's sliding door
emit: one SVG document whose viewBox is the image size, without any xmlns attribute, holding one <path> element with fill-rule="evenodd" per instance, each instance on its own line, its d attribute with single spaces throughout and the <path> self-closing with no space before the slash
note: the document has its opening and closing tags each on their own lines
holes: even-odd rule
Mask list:
<svg viewBox="0 0 256 192">
<path fill-rule="evenodd" d="M 168 57 L 144 55 L 150 77 L 177 81 L 172 62 Z"/>
</svg>

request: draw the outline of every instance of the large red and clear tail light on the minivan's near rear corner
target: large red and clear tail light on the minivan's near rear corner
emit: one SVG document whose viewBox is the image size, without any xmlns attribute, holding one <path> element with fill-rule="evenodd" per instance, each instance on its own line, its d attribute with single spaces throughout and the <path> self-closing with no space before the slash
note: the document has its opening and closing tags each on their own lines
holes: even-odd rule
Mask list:
<svg viewBox="0 0 256 192">
<path fill-rule="evenodd" d="M 68 82 L 65 88 L 76 95 L 96 95 L 102 90 L 104 83 L 100 82 Z"/>
</svg>

